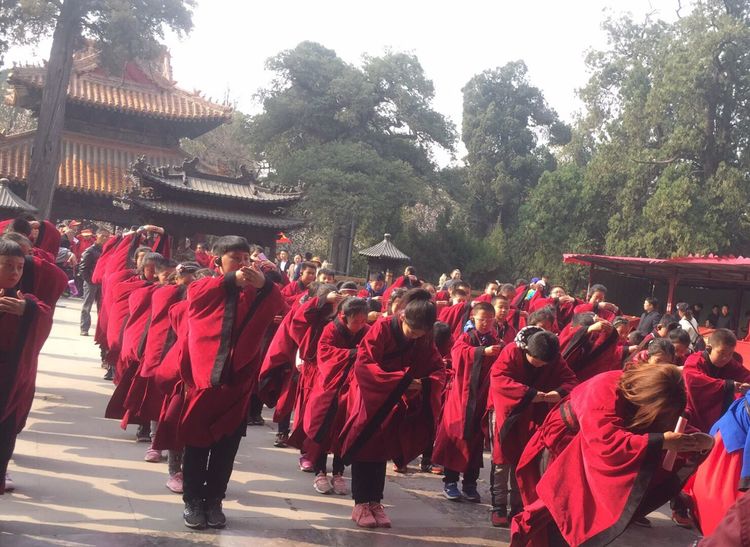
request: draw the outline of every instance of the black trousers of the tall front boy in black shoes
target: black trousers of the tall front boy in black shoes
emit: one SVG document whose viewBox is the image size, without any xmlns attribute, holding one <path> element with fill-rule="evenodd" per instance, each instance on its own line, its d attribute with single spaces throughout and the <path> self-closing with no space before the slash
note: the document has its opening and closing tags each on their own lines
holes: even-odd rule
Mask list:
<svg viewBox="0 0 750 547">
<path fill-rule="evenodd" d="M 182 499 L 185 502 L 224 499 L 245 427 L 243 423 L 234 433 L 211 446 L 185 447 L 182 456 Z"/>
</svg>

